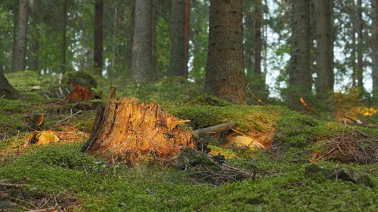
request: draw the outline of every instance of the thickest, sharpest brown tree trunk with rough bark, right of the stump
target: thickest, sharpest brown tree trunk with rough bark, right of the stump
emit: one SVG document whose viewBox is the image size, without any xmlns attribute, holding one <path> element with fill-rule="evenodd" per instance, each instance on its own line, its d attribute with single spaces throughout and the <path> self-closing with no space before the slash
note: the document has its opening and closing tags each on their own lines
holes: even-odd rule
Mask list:
<svg viewBox="0 0 378 212">
<path fill-rule="evenodd" d="M 204 92 L 246 104 L 242 0 L 211 0 L 209 26 Z"/>
</svg>

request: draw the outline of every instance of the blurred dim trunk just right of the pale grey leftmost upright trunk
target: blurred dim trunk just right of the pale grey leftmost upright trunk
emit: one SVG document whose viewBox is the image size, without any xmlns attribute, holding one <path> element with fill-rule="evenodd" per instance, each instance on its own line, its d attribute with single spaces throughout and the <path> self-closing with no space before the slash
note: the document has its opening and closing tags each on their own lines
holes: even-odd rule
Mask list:
<svg viewBox="0 0 378 212">
<path fill-rule="evenodd" d="M 30 62 L 29 62 L 29 69 L 33 71 L 40 71 L 39 66 L 39 50 L 40 50 L 40 43 L 39 39 L 41 37 L 39 25 L 41 23 L 41 0 L 34 0 L 33 1 L 33 21 L 34 21 L 34 36 L 31 40 L 31 47 L 30 47 Z"/>
</svg>

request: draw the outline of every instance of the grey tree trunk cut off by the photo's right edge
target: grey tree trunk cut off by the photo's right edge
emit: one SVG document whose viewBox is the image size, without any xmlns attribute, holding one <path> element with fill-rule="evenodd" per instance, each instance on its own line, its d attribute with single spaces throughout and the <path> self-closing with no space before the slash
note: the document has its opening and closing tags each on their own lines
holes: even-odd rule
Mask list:
<svg viewBox="0 0 378 212">
<path fill-rule="evenodd" d="M 378 2 L 371 1 L 373 29 L 371 31 L 371 60 L 373 78 L 373 97 L 378 100 Z"/>
</svg>

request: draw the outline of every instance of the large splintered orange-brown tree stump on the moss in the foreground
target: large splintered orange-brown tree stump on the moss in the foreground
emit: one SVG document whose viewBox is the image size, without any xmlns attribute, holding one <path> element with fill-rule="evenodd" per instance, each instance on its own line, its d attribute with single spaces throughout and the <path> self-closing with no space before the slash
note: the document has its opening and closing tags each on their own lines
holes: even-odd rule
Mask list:
<svg viewBox="0 0 378 212">
<path fill-rule="evenodd" d="M 190 131 L 178 128 L 183 121 L 162 112 L 155 101 L 139 103 L 136 98 L 117 100 L 110 87 L 106 106 L 99 107 L 85 152 L 117 161 L 129 161 L 131 155 L 153 153 L 155 157 L 177 155 L 181 147 L 193 147 Z"/>
</svg>

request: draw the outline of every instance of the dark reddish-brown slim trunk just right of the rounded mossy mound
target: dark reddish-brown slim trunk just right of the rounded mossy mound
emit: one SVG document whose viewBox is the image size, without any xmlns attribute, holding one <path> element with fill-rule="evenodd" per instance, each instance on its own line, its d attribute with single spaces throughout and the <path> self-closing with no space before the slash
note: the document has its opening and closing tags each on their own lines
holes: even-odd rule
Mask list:
<svg viewBox="0 0 378 212">
<path fill-rule="evenodd" d="M 103 2 L 102 0 L 95 1 L 95 17 L 94 17 L 94 52 L 93 60 L 94 67 L 98 68 L 98 74 L 102 73 L 102 11 L 103 11 Z"/>
</svg>

